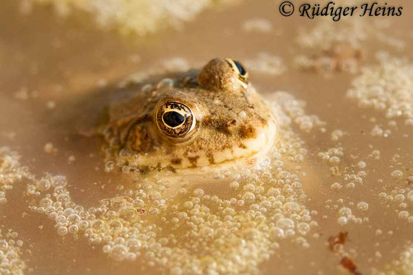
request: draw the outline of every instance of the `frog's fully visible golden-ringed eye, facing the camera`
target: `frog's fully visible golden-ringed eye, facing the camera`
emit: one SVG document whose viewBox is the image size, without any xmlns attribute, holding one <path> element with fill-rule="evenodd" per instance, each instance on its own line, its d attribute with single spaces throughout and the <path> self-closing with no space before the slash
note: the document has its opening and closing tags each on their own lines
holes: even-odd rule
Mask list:
<svg viewBox="0 0 413 275">
<path fill-rule="evenodd" d="M 195 129 L 192 109 L 178 100 L 162 102 L 156 111 L 156 124 L 167 137 L 187 137 Z"/>
</svg>

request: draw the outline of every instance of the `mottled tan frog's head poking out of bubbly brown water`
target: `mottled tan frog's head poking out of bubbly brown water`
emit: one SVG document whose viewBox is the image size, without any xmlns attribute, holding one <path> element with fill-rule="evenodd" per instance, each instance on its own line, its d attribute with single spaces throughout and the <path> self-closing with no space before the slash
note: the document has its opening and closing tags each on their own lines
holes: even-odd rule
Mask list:
<svg viewBox="0 0 413 275">
<path fill-rule="evenodd" d="M 253 162 L 271 148 L 277 126 L 242 63 L 213 58 L 156 85 L 126 88 L 98 134 L 123 164 L 177 170 Z"/>
</svg>

